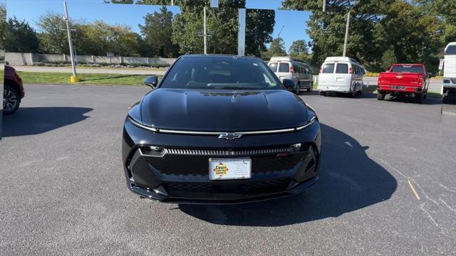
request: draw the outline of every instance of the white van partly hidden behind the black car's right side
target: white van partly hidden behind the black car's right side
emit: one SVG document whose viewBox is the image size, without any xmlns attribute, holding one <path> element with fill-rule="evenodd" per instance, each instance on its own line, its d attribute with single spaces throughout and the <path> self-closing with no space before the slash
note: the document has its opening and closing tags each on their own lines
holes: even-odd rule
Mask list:
<svg viewBox="0 0 456 256">
<path fill-rule="evenodd" d="M 314 87 L 312 70 L 303 61 L 291 57 L 272 57 L 268 65 L 281 81 L 293 80 L 296 85 L 293 91 L 296 94 L 299 94 L 301 90 L 312 91 L 312 87 Z"/>
</svg>

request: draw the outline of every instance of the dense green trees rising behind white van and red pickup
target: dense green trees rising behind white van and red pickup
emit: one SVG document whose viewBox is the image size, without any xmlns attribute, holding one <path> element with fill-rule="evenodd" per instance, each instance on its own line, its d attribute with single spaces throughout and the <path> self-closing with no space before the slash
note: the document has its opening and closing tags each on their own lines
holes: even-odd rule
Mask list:
<svg viewBox="0 0 456 256">
<path fill-rule="evenodd" d="M 306 32 L 312 63 L 342 55 L 346 14 L 351 12 L 347 55 L 381 71 L 384 60 L 425 63 L 432 70 L 446 43 L 456 40 L 455 0 L 285 0 L 285 9 L 310 10 Z"/>
</svg>

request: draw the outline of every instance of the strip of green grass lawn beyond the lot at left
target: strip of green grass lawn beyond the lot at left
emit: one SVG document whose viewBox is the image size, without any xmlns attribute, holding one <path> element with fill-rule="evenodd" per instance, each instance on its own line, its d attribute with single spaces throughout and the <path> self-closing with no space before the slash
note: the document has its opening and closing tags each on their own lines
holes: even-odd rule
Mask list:
<svg viewBox="0 0 456 256">
<path fill-rule="evenodd" d="M 142 85 L 147 75 L 79 74 L 81 82 L 70 82 L 71 73 L 19 72 L 25 84 L 71 84 L 71 85 Z M 162 78 L 161 75 L 158 76 Z"/>
</svg>

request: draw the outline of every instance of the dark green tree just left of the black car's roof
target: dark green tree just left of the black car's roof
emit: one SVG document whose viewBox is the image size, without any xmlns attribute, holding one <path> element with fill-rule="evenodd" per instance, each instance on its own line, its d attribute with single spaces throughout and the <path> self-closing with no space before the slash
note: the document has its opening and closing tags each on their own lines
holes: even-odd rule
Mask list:
<svg viewBox="0 0 456 256">
<path fill-rule="evenodd" d="M 139 24 L 142 37 L 144 38 L 147 56 L 174 58 L 179 53 L 179 46 L 172 43 L 172 12 L 167 11 L 165 6 L 160 8 L 160 13 L 155 11 L 144 17 L 144 25 Z"/>
</svg>

